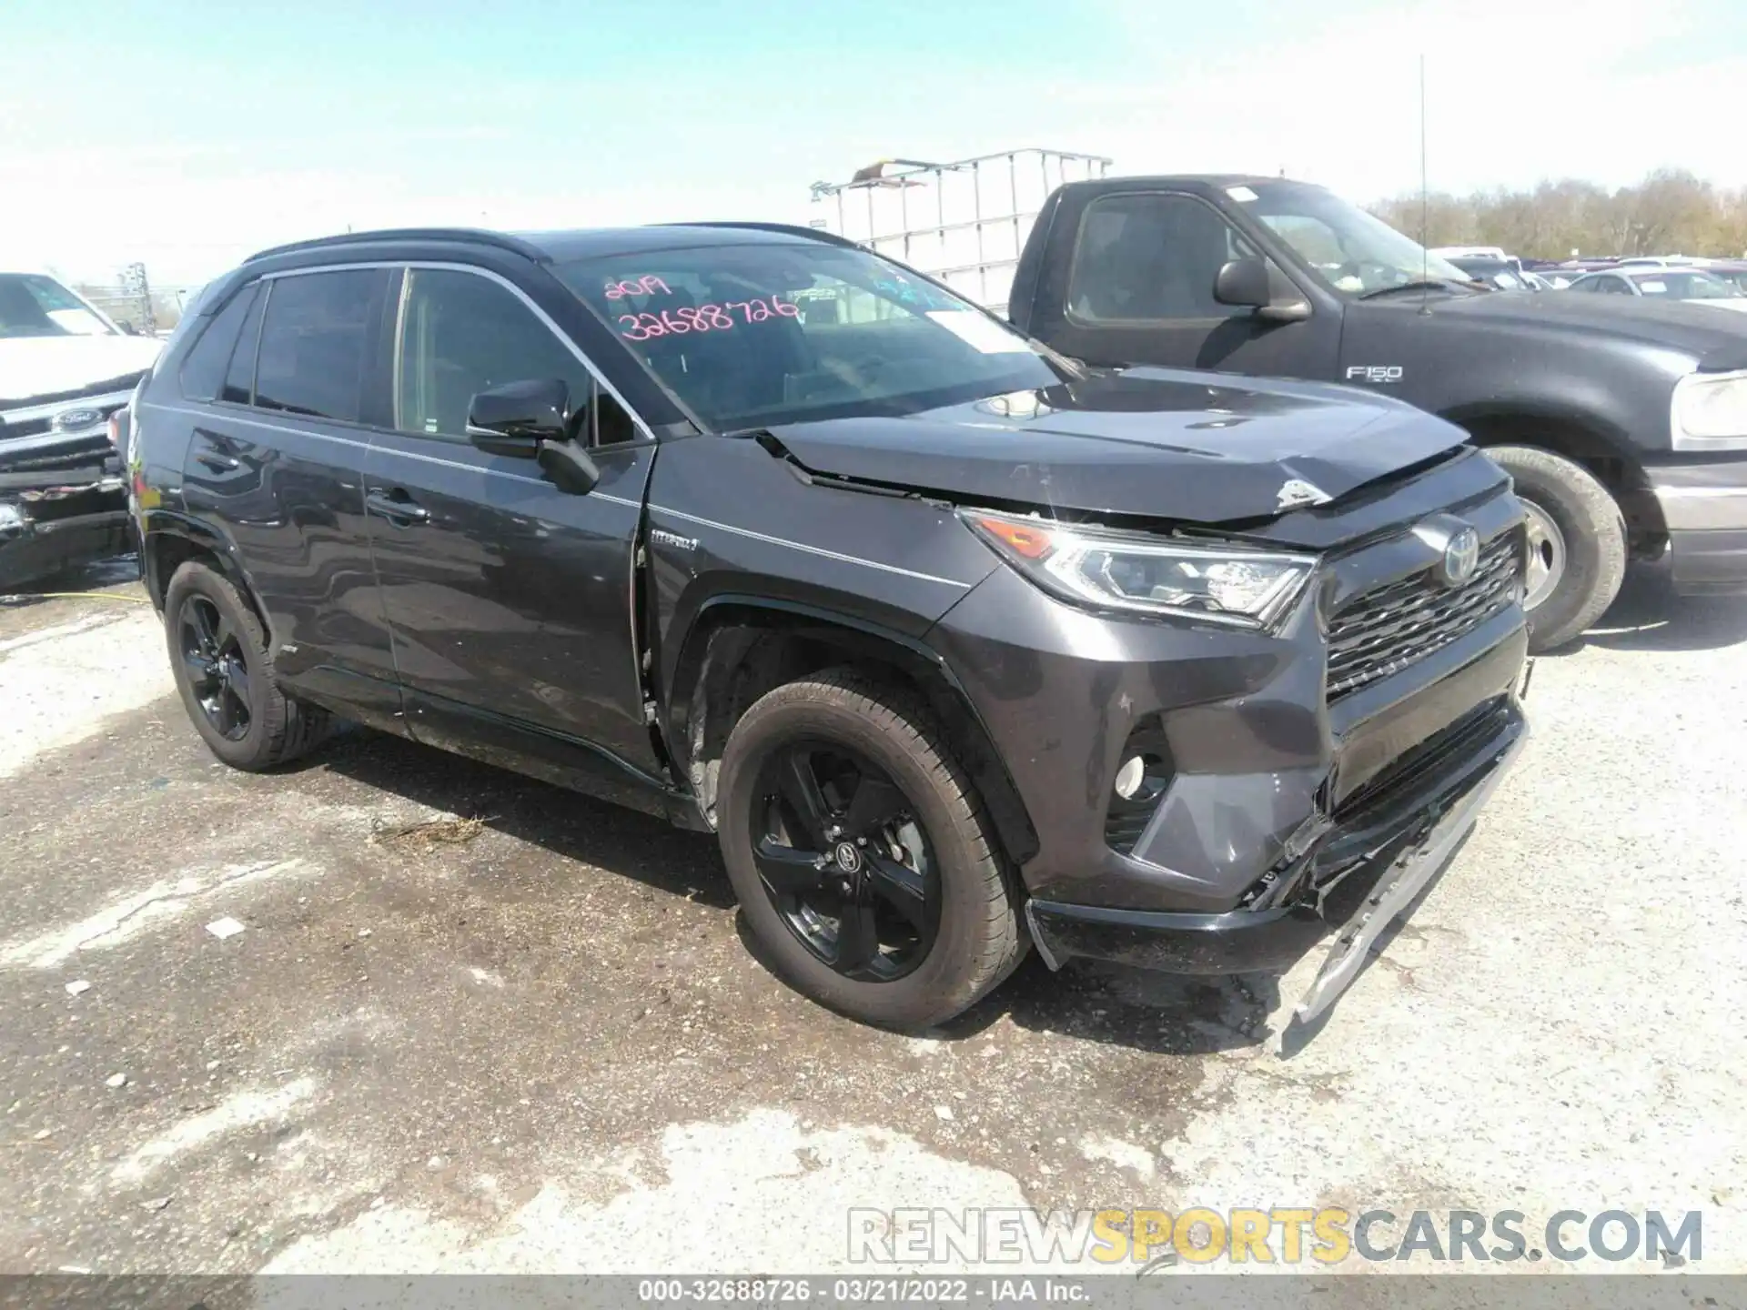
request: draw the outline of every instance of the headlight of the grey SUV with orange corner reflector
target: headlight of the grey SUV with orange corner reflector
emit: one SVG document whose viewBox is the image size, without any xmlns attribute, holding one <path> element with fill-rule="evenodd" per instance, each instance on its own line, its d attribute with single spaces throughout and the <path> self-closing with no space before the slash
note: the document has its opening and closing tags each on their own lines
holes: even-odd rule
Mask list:
<svg viewBox="0 0 1747 1310">
<path fill-rule="evenodd" d="M 1092 610 L 1274 627 L 1315 569 L 1312 555 L 1200 545 L 961 510 L 959 517 L 1052 596 Z"/>
</svg>

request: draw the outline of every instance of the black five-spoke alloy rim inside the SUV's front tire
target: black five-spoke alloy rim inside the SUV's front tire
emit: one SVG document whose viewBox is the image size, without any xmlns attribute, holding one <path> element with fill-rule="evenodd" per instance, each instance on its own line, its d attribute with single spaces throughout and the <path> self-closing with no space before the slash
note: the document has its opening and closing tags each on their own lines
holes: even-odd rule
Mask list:
<svg viewBox="0 0 1747 1310">
<path fill-rule="evenodd" d="M 753 865 L 807 952 L 858 982 L 893 982 L 928 959 L 938 865 L 915 807 L 882 769 L 839 742 L 784 744 L 760 769 L 753 807 Z"/>
</svg>

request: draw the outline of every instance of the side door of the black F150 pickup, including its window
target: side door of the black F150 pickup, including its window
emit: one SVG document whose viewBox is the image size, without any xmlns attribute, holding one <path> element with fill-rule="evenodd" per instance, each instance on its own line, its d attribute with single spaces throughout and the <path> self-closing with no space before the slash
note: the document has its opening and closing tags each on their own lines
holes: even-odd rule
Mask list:
<svg viewBox="0 0 1747 1310">
<path fill-rule="evenodd" d="M 1067 239 L 1053 239 L 1031 332 L 1087 363 L 1158 363 L 1242 374 L 1326 377 L 1340 325 L 1258 318 L 1212 299 L 1219 267 L 1265 259 L 1218 208 L 1177 190 L 1092 199 Z M 1275 299 L 1303 299 L 1268 260 Z"/>
</svg>

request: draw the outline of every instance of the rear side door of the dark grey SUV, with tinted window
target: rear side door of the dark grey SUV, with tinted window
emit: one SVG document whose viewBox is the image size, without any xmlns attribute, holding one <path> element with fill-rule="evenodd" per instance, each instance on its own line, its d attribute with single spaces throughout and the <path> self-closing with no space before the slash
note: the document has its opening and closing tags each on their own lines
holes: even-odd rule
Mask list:
<svg viewBox="0 0 1747 1310">
<path fill-rule="evenodd" d="M 381 328 L 391 281 L 386 267 L 353 267 L 267 274 L 243 288 L 248 309 L 222 384 L 211 384 L 210 358 L 197 381 L 183 381 L 185 393 L 213 395 L 190 396 L 199 403 L 187 410 L 182 489 L 187 510 L 232 543 L 266 610 L 276 676 L 400 730 L 363 519 L 369 424 L 388 407 Z"/>
</svg>

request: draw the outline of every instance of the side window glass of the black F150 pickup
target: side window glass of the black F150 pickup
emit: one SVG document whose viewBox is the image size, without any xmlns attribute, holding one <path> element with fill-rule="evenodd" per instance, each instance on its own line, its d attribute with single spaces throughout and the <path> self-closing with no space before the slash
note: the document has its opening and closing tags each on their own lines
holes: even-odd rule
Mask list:
<svg viewBox="0 0 1747 1310">
<path fill-rule="evenodd" d="M 1260 259 L 1260 252 L 1193 196 L 1106 196 L 1080 222 L 1067 313 L 1085 323 L 1249 314 L 1212 299 L 1219 265 L 1233 259 Z"/>
</svg>

